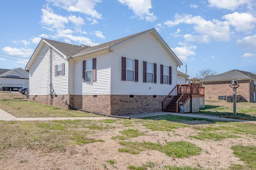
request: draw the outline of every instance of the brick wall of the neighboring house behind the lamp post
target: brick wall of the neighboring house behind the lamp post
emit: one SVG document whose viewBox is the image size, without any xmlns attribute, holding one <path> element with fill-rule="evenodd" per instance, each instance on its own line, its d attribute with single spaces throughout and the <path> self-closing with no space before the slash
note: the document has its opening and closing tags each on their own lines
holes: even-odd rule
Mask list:
<svg viewBox="0 0 256 170">
<path fill-rule="evenodd" d="M 204 82 L 205 98 L 218 100 L 218 96 L 233 96 L 233 89 L 229 86 L 230 82 Z M 238 83 L 240 86 L 236 89 L 236 95 L 242 95 L 249 101 L 249 80 L 239 80 Z"/>
</svg>

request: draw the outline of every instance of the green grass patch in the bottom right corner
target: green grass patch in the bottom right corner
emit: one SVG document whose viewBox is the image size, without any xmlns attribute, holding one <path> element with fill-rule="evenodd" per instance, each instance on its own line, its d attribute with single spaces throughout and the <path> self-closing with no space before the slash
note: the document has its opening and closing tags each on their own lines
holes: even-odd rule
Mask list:
<svg viewBox="0 0 256 170">
<path fill-rule="evenodd" d="M 251 169 L 256 169 L 256 146 L 235 145 L 231 149 L 233 153 L 242 160 L 246 166 Z"/>
</svg>

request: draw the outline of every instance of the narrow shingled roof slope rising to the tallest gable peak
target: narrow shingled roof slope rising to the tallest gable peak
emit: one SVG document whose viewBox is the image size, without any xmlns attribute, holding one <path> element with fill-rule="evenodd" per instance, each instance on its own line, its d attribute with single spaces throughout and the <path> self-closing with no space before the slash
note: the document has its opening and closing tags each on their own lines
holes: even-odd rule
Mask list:
<svg viewBox="0 0 256 170">
<path fill-rule="evenodd" d="M 142 34 L 142 33 L 144 33 L 144 32 L 149 31 L 149 30 L 151 30 L 151 29 L 148 29 L 148 30 L 146 30 L 146 31 L 142 31 L 142 32 L 140 32 L 140 33 L 136 33 L 136 34 L 133 34 L 133 35 L 129 35 L 129 36 L 127 36 L 127 37 L 123 37 L 123 38 L 120 38 L 120 39 L 116 39 L 116 40 L 114 40 L 114 41 L 110 41 L 110 42 L 107 42 L 107 43 L 103 43 L 103 44 L 100 44 L 100 45 L 96 45 L 96 46 L 94 46 L 94 47 L 86 48 L 86 49 L 84 49 L 83 51 L 80 51 L 79 53 L 77 53 L 76 55 L 80 55 L 80 54 L 88 53 L 88 52 L 95 51 L 95 50 L 98 50 L 98 49 L 103 49 L 103 48 L 105 48 L 105 47 L 110 47 L 110 46 L 112 46 L 112 45 L 116 45 L 116 44 L 118 44 L 118 43 L 121 43 L 122 41 L 125 41 L 125 40 L 127 40 L 127 39 L 130 39 L 130 38 L 135 37 L 135 36 L 137 36 L 137 35 L 140 35 L 140 34 Z"/>
</svg>

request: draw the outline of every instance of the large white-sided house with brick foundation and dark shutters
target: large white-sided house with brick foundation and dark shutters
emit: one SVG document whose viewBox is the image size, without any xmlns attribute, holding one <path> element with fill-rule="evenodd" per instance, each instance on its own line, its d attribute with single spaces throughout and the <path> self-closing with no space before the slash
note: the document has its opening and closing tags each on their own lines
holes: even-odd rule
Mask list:
<svg viewBox="0 0 256 170">
<path fill-rule="evenodd" d="M 32 101 L 126 115 L 161 111 L 180 65 L 149 29 L 94 47 L 42 39 L 25 69 Z"/>
</svg>

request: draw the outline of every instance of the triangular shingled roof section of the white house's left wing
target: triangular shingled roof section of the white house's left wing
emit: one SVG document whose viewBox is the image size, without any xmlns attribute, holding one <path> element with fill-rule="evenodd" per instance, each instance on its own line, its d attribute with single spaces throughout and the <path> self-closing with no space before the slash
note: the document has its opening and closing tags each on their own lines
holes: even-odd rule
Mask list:
<svg viewBox="0 0 256 170">
<path fill-rule="evenodd" d="M 82 46 L 72 45 L 72 44 L 68 44 L 68 43 L 62 43 L 62 42 L 54 41 L 54 40 L 50 40 L 50 39 L 44 39 L 44 40 L 47 41 L 48 43 L 50 43 L 50 45 L 52 45 L 53 47 L 58 49 L 60 52 L 62 52 L 66 56 L 72 56 L 86 48 L 90 48 L 89 46 L 82 47 Z"/>
</svg>

